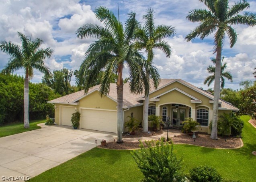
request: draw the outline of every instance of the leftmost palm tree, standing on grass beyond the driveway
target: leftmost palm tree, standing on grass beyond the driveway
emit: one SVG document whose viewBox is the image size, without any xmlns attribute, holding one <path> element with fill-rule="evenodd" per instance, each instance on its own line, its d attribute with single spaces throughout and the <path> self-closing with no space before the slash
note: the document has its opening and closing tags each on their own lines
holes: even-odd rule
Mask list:
<svg viewBox="0 0 256 182">
<path fill-rule="evenodd" d="M 29 128 L 29 79 L 33 78 L 34 69 L 45 75 L 51 75 L 49 68 L 44 65 L 44 59 L 50 58 L 53 50 L 49 47 L 40 48 L 43 40 L 36 38 L 31 41 L 27 36 L 18 32 L 21 46 L 6 42 L 0 42 L 0 50 L 10 55 L 6 67 L 1 71 L 3 74 L 10 74 L 18 69 L 25 70 L 24 79 L 24 128 Z"/>
</svg>

